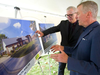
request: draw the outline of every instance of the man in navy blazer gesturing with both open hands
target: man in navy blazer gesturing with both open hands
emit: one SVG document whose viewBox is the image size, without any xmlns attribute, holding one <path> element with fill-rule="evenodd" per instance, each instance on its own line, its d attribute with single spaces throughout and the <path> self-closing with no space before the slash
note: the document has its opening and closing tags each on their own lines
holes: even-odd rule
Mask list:
<svg viewBox="0 0 100 75">
<path fill-rule="evenodd" d="M 100 75 L 100 24 L 96 21 L 98 5 L 93 1 L 77 6 L 79 25 L 84 26 L 74 47 L 54 45 L 52 51 L 61 51 L 50 57 L 68 63 L 70 75 Z M 72 54 L 69 57 L 67 53 Z"/>
</svg>

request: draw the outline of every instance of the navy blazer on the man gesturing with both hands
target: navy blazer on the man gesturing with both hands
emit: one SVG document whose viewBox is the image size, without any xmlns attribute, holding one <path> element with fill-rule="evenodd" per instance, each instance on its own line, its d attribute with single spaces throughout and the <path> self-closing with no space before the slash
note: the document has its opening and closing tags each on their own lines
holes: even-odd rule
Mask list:
<svg viewBox="0 0 100 75">
<path fill-rule="evenodd" d="M 96 21 L 80 35 L 77 44 L 64 47 L 68 57 L 70 75 L 100 75 L 100 24 Z"/>
</svg>

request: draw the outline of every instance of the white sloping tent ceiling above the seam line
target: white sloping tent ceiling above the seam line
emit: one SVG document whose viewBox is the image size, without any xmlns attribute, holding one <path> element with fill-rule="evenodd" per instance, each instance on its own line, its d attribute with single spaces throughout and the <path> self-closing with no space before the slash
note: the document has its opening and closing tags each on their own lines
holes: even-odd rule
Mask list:
<svg viewBox="0 0 100 75">
<path fill-rule="evenodd" d="M 19 7 L 21 10 L 31 10 L 63 16 L 68 6 L 77 6 L 86 0 L 0 0 L 0 5 Z M 93 1 L 93 0 L 92 0 Z M 94 0 L 100 9 L 100 0 Z M 100 10 L 99 10 L 100 12 Z M 100 16 L 100 13 L 98 13 Z"/>
</svg>

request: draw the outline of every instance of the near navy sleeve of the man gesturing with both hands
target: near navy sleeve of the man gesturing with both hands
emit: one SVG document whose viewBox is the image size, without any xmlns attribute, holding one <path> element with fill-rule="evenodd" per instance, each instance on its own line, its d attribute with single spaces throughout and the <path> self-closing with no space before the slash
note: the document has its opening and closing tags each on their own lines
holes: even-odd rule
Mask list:
<svg viewBox="0 0 100 75">
<path fill-rule="evenodd" d="M 93 36 L 90 60 L 68 57 L 68 69 L 86 75 L 100 75 L 100 32 Z"/>
</svg>

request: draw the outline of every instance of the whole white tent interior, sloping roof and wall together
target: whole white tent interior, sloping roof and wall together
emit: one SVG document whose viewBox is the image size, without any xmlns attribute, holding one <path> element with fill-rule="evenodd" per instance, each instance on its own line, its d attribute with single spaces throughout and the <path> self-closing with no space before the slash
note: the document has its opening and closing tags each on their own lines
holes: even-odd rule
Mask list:
<svg viewBox="0 0 100 75">
<path fill-rule="evenodd" d="M 21 6 L 29 9 L 22 9 L 17 12 L 18 19 L 39 20 L 44 23 L 54 23 L 58 25 L 61 20 L 65 20 L 64 14 L 68 6 L 77 6 L 82 0 L 1 0 L 0 16 L 15 18 L 14 6 Z M 84 0 L 83 0 L 84 1 Z M 100 0 L 96 0 L 100 3 Z M 5 5 L 3 5 L 5 3 Z M 7 4 L 7 5 L 6 5 Z M 99 4 L 98 4 L 99 5 Z M 35 11 L 36 10 L 36 11 Z M 41 12 L 42 11 L 42 12 Z M 100 11 L 100 10 L 99 10 Z M 45 13 L 47 12 L 47 13 Z M 49 12 L 49 13 L 48 13 Z M 53 14 L 52 14 L 53 13 Z M 57 15 L 59 14 L 59 15 Z M 99 13 L 100 14 L 100 13 Z M 98 14 L 98 16 L 99 16 Z M 46 18 L 44 18 L 46 16 Z M 100 17 L 97 18 L 100 22 Z M 60 33 L 57 33 L 58 44 L 61 41 Z"/>
</svg>

